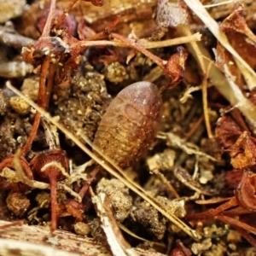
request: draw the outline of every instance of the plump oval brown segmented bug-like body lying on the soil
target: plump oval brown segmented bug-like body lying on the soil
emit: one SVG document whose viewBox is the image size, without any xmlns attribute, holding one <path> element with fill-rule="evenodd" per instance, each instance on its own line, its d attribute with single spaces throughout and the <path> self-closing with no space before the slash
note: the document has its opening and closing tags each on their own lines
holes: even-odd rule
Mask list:
<svg viewBox="0 0 256 256">
<path fill-rule="evenodd" d="M 127 86 L 108 106 L 94 144 L 120 167 L 130 166 L 153 142 L 161 104 L 154 84 L 137 82 Z"/>
</svg>

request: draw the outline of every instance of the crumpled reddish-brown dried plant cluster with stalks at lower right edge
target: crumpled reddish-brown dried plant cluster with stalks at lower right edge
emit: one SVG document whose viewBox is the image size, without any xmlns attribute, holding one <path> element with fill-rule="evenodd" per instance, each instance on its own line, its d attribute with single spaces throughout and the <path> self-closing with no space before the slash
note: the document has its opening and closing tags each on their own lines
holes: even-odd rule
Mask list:
<svg viewBox="0 0 256 256">
<path fill-rule="evenodd" d="M 242 217 L 244 214 L 253 214 L 256 210 L 256 161 L 255 138 L 248 131 L 241 132 L 241 126 L 229 116 L 224 116 L 218 121 L 217 135 L 224 151 L 230 154 L 230 162 L 235 170 L 228 172 L 227 181 L 230 187 L 235 188 L 235 195 L 215 209 L 207 212 L 190 214 L 189 220 L 194 222 L 201 219 L 219 219 L 225 224 L 230 224 L 241 233 L 247 241 L 256 247 L 256 227 L 247 218 L 245 221 L 232 218 Z M 241 218 L 242 219 L 242 218 Z"/>
</svg>

